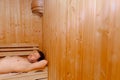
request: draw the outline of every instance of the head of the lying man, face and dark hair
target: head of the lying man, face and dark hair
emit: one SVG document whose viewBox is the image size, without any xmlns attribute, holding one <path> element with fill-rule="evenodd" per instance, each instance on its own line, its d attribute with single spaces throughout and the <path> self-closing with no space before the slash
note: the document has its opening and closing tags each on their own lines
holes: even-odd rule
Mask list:
<svg viewBox="0 0 120 80">
<path fill-rule="evenodd" d="M 45 59 L 44 53 L 41 51 L 33 51 L 28 55 L 28 60 L 32 63 Z"/>
</svg>

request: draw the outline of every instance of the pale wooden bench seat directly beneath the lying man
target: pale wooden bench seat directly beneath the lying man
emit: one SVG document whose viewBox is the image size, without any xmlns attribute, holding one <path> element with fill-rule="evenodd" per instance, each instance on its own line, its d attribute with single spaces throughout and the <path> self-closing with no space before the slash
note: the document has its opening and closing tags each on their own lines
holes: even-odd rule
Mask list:
<svg viewBox="0 0 120 80">
<path fill-rule="evenodd" d="M 47 70 L 43 70 L 43 71 L 39 71 L 39 72 L 34 72 L 34 71 L 30 71 L 27 73 L 9 73 L 9 74 L 2 74 L 0 75 L 0 80 L 17 80 L 19 79 L 28 79 L 30 78 L 30 80 L 33 79 L 47 79 L 48 77 L 48 72 Z"/>
</svg>

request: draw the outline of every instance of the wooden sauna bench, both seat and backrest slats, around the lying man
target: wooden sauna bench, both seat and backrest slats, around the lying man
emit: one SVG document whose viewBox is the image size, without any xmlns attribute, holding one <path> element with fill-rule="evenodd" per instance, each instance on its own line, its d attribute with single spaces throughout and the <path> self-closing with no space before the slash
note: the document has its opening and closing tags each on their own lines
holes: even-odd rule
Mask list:
<svg viewBox="0 0 120 80">
<path fill-rule="evenodd" d="M 39 50 L 39 45 L 36 44 L 4 44 L 0 45 L 0 57 L 4 56 L 27 56 L 34 50 Z M 27 73 L 8 73 L 0 74 L 0 80 L 47 80 L 48 70 L 34 70 Z"/>
</svg>

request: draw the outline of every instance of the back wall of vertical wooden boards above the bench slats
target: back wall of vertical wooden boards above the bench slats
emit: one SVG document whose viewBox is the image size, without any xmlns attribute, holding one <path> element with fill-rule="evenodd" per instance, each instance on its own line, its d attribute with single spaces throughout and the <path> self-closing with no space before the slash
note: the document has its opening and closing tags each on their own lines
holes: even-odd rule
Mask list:
<svg viewBox="0 0 120 80">
<path fill-rule="evenodd" d="M 42 18 L 32 14 L 32 0 L 0 0 L 0 44 L 36 43 L 42 49 Z"/>
</svg>

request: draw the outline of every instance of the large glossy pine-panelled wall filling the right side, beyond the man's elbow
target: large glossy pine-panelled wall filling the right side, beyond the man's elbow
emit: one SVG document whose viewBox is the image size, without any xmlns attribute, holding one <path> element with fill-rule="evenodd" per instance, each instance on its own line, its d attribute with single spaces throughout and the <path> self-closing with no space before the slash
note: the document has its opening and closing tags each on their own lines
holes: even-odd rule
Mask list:
<svg viewBox="0 0 120 80">
<path fill-rule="evenodd" d="M 45 0 L 49 80 L 120 80 L 120 0 Z"/>
</svg>

